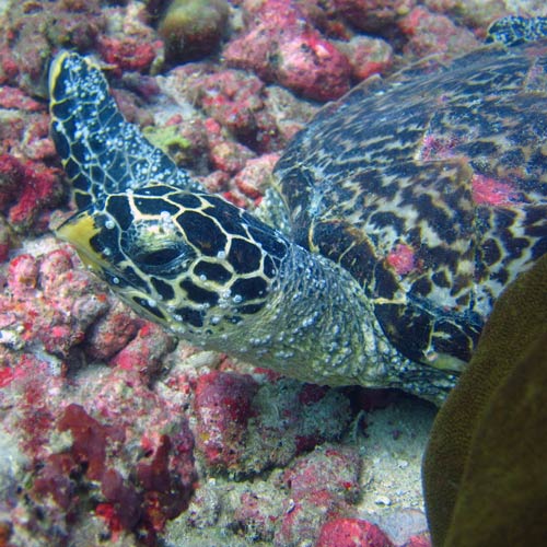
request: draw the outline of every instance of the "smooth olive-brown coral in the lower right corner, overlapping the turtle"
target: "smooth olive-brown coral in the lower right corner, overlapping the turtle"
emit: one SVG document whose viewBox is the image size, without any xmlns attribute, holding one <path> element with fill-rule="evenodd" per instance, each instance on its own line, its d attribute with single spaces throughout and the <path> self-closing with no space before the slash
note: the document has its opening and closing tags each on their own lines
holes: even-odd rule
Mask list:
<svg viewBox="0 0 547 547">
<path fill-rule="evenodd" d="M 502 294 L 423 462 L 435 547 L 547 537 L 547 255 Z"/>
</svg>

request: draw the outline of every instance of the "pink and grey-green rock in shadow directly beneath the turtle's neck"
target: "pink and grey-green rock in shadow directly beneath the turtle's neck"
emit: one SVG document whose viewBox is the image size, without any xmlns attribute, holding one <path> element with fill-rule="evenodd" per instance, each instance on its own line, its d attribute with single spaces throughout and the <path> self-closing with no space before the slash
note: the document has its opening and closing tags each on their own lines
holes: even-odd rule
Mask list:
<svg viewBox="0 0 547 547">
<path fill-rule="evenodd" d="M 339 438 L 349 400 L 339 392 L 280 379 L 211 372 L 198 379 L 196 445 L 208 466 L 248 475 L 287 465 L 295 455 Z"/>
</svg>

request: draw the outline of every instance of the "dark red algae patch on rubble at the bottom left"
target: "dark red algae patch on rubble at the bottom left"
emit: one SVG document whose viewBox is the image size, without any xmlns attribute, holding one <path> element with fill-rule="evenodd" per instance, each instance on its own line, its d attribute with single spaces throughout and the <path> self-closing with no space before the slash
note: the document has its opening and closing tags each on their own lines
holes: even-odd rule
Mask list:
<svg viewBox="0 0 547 547">
<path fill-rule="evenodd" d="M 193 490 L 172 468 L 171 438 L 161 435 L 158 446 L 124 478 L 110 462 L 123 451 L 125 428 L 105 426 L 82 406 L 70 404 L 57 421 L 57 430 L 70 431 L 72 443 L 46 457 L 32 489 L 36 503 L 51 496 L 60 509 L 75 513 L 82 503 L 79 492 L 90 481 L 98 482 L 103 499 L 94 503 L 95 511 L 112 533 L 137 532 L 144 545 L 156 545 L 158 531 L 186 509 Z"/>
</svg>

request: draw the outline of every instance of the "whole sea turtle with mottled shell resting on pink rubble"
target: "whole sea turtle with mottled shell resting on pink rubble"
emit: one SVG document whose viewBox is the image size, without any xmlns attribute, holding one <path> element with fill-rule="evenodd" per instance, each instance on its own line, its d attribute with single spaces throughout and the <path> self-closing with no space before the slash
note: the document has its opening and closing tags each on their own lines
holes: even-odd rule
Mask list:
<svg viewBox="0 0 547 547">
<path fill-rule="evenodd" d="M 277 163 L 267 222 L 206 193 L 93 62 L 60 53 L 51 132 L 78 211 L 57 233 L 195 345 L 439 403 L 498 294 L 547 252 L 544 23 L 504 20 L 493 44 L 325 106 Z"/>
</svg>

